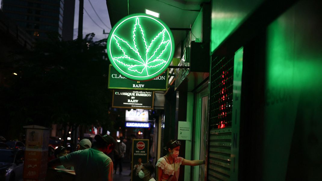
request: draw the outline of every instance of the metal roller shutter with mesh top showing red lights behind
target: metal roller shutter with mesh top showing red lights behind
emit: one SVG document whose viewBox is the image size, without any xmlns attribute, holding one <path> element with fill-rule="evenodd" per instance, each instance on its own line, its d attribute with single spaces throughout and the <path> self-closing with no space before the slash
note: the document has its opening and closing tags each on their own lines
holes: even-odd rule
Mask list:
<svg viewBox="0 0 322 181">
<path fill-rule="evenodd" d="M 230 180 L 233 57 L 211 62 L 208 180 Z"/>
</svg>

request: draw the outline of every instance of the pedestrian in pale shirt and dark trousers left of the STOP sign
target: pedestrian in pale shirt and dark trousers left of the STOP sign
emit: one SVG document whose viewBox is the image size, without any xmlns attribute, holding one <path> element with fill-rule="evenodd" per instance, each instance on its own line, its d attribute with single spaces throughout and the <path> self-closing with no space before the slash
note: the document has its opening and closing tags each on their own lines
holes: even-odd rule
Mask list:
<svg viewBox="0 0 322 181">
<path fill-rule="evenodd" d="M 122 175 L 122 163 L 123 163 L 123 159 L 124 159 L 124 154 L 126 151 L 126 145 L 123 142 L 124 137 L 120 137 L 119 141 L 114 149 L 114 161 L 115 161 L 115 167 L 114 167 L 114 173 L 116 174 L 116 171 L 118 169 L 118 165 L 119 165 L 119 175 Z"/>
</svg>

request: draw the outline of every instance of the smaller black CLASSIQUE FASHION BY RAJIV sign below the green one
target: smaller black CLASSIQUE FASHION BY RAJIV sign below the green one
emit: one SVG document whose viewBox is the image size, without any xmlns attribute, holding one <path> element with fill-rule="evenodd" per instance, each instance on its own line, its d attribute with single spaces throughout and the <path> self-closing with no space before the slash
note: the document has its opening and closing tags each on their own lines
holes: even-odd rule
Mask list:
<svg viewBox="0 0 322 181">
<path fill-rule="evenodd" d="M 154 92 L 113 90 L 112 107 L 153 109 Z"/>
</svg>

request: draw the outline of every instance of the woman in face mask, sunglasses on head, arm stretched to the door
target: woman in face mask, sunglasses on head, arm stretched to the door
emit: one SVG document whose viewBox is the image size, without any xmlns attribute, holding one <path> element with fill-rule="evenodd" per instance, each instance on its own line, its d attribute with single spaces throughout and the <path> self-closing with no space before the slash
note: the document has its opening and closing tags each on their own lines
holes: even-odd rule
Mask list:
<svg viewBox="0 0 322 181">
<path fill-rule="evenodd" d="M 166 144 L 166 156 L 156 162 L 156 180 L 157 181 L 177 181 L 179 177 L 180 165 L 197 166 L 205 163 L 204 160 L 187 160 L 178 157 L 180 150 L 180 141 L 170 140 Z"/>
</svg>

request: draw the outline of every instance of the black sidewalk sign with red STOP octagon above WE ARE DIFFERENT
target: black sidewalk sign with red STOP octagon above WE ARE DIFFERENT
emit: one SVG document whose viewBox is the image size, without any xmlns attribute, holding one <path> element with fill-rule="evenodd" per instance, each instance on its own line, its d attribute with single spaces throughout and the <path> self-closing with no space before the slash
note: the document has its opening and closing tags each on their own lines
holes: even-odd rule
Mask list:
<svg viewBox="0 0 322 181">
<path fill-rule="evenodd" d="M 132 142 L 132 172 L 131 172 L 131 180 L 132 181 L 142 181 L 142 179 L 138 176 L 138 172 L 140 169 L 139 162 L 141 164 L 147 163 L 149 158 L 149 140 L 138 140 L 135 139 Z M 139 160 L 140 159 L 140 160 Z"/>
</svg>

